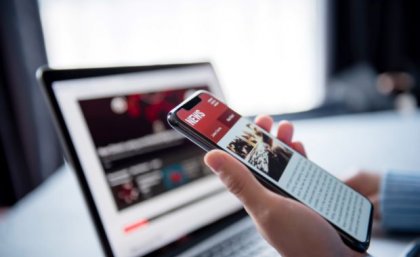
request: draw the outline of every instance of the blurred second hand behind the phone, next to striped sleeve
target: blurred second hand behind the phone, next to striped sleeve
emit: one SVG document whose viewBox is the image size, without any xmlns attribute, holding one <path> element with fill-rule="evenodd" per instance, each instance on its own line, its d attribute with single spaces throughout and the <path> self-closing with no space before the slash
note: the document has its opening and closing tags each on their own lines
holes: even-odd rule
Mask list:
<svg viewBox="0 0 420 257">
<path fill-rule="evenodd" d="M 379 184 L 381 175 L 371 171 L 359 171 L 346 181 L 346 184 L 366 196 L 373 204 L 373 218 L 381 218 L 379 206 Z"/>
</svg>

